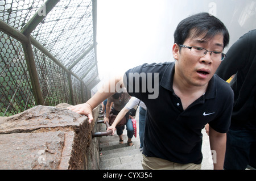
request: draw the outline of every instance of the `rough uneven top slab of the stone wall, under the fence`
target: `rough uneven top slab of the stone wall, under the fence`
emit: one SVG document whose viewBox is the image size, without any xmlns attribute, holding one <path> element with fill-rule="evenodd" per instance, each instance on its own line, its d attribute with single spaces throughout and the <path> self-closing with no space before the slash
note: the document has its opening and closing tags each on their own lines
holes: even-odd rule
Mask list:
<svg viewBox="0 0 256 181">
<path fill-rule="evenodd" d="M 73 111 L 47 106 L 36 106 L 10 117 L 0 117 L 0 134 L 32 132 L 38 129 L 77 129 L 86 123 L 86 116 Z"/>
</svg>

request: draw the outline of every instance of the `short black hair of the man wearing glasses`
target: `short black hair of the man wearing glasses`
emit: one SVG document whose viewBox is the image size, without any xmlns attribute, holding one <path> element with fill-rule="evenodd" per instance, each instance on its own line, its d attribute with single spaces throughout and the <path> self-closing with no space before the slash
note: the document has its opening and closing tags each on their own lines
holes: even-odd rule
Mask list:
<svg viewBox="0 0 256 181">
<path fill-rule="evenodd" d="M 229 32 L 224 23 L 207 12 L 201 12 L 182 20 L 175 30 L 174 43 L 183 44 L 187 38 L 193 39 L 204 33 L 206 33 L 204 40 L 210 39 L 218 33 L 223 33 L 224 48 L 229 44 Z"/>
</svg>

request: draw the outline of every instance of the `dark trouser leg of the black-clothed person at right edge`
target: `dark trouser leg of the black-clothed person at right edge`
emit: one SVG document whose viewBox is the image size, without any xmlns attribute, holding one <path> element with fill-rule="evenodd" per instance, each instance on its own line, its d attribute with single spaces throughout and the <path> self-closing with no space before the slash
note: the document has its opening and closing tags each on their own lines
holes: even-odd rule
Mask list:
<svg viewBox="0 0 256 181">
<path fill-rule="evenodd" d="M 249 165 L 251 137 L 246 129 L 229 129 L 224 169 L 244 170 Z"/>
</svg>

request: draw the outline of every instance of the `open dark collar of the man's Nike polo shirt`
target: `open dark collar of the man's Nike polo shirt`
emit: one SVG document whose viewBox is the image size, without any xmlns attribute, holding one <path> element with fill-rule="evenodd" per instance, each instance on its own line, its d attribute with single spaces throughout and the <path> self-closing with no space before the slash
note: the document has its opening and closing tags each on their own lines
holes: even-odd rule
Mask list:
<svg viewBox="0 0 256 181">
<path fill-rule="evenodd" d="M 160 82 L 160 86 L 164 89 L 170 90 L 174 92 L 172 89 L 172 85 L 174 83 L 174 71 L 175 71 L 175 62 L 170 62 L 167 66 L 166 70 L 163 73 L 162 80 Z M 216 98 L 217 85 L 216 85 L 216 75 L 213 75 L 212 79 L 210 79 L 207 91 L 205 92 L 205 99 L 213 99 Z"/>
</svg>

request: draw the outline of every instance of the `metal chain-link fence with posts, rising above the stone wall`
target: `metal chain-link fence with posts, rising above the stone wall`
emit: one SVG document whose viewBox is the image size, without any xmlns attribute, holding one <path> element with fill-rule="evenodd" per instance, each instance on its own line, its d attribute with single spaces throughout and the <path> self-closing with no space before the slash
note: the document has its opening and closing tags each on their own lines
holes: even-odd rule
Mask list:
<svg viewBox="0 0 256 181">
<path fill-rule="evenodd" d="M 0 116 L 89 99 L 96 14 L 96 0 L 0 1 Z"/>
</svg>

